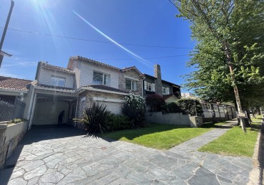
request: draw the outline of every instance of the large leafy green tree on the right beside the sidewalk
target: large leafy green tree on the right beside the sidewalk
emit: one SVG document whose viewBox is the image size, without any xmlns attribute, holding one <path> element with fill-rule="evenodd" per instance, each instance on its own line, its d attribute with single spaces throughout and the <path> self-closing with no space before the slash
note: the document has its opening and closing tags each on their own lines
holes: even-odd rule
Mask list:
<svg viewBox="0 0 264 185">
<path fill-rule="evenodd" d="M 186 87 L 205 100 L 235 97 L 239 112 L 240 97 L 244 108 L 258 102 L 264 75 L 264 2 L 177 0 L 175 5 L 178 17 L 190 21 L 197 41 L 188 62 L 197 70 L 186 75 Z M 253 89 L 255 85 L 260 88 Z"/>
</svg>

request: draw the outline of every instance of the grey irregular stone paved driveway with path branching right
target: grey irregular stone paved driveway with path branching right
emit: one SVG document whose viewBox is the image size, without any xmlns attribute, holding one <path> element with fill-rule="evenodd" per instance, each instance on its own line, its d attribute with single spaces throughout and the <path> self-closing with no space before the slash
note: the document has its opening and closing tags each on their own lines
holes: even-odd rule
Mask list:
<svg viewBox="0 0 264 185">
<path fill-rule="evenodd" d="M 1 184 L 247 184 L 252 160 L 197 152 L 226 129 L 168 151 L 83 137 L 73 127 L 31 129 L 0 171 Z M 14 168 L 12 164 L 16 163 Z"/>
</svg>

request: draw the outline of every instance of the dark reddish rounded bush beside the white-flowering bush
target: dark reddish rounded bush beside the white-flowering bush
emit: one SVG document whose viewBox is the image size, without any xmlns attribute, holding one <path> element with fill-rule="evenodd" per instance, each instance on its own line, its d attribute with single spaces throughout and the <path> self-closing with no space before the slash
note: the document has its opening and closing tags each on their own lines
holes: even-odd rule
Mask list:
<svg viewBox="0 0 264 185">
<path fill-rule="evenodd" d="M 151 107 L 151 111 L 158 112 L 163 110 L 163 106 L 166 105 L 166 102 L 160 95 L 148 95 L 146 97 L 146 105 Z"/>
</svg>

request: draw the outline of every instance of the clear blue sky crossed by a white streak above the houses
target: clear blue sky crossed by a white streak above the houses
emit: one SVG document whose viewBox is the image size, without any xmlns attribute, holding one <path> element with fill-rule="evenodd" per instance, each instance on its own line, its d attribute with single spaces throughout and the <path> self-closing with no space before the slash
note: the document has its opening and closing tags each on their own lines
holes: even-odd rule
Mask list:
<svg viewBox="0 0 264 185">
<path fill-rule="evenodd" d="M 1 34 L 10 1 L 0 4 Z M 195 42 L 176 14 L 168 0 L 16 0 L 9 28 L 21 31 L 6 33 L 2 50 L 13 56 L 4 58 L 0 75 L 34 80 L 41 60 L 66 68 L 69 57 L 83 56 L 149 75 L 158 63 L 163 80 L 182 85 L 181 75 L 193 70 L 186 61 Z"/>
</svg>

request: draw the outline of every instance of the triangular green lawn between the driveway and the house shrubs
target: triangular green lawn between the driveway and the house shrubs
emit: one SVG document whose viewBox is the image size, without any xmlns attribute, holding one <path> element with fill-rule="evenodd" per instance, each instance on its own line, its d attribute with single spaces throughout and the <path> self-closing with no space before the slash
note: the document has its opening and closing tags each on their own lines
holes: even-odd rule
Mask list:
<svg viewBox="0 0 264 185">
<path fill-rule="evenodd" d="M 150 124 L 140 129 L 107 132 L 99 137 L 140 144 L 155 149 L 171 149 L 178 144 L 197 137 L 211 128 L 191 128 L 178 125 Z"/>
</svg>

